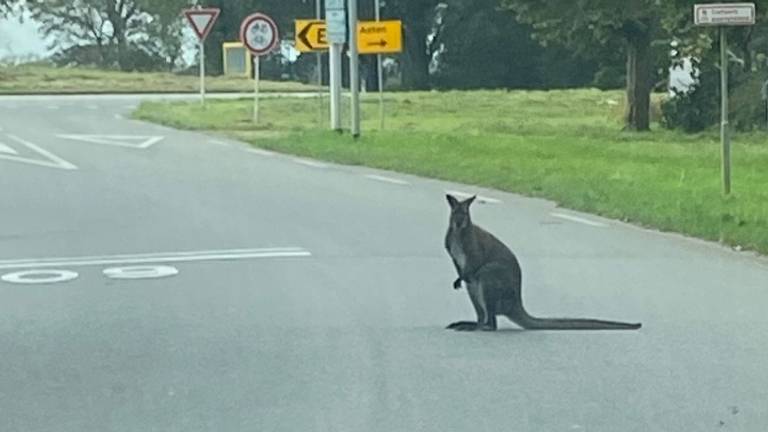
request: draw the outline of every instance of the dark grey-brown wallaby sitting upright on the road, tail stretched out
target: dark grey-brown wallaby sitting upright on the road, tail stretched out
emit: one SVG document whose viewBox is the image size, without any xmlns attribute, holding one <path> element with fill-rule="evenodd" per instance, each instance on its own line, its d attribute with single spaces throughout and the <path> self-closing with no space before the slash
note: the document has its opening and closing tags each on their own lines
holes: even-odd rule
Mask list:
<svg viewBox="0 0 768 432">
<path fill-rule="evenodd" d="M 528 330 L 632 330 L 641 324 L 581 318 L 536 318 L 523 307 L 522 272 L 517 257 L 491 233 L 474 225 L 469 216 L 473 196 L 459 202 L 446 195 L 451 205 L 445 248 L 453 260 L 458 279 L 453 288 L 466 284 L 477 321 L 458 321 L 453 330 L 496 330 L 496 315 L 504 315 Z"/>
</svg>

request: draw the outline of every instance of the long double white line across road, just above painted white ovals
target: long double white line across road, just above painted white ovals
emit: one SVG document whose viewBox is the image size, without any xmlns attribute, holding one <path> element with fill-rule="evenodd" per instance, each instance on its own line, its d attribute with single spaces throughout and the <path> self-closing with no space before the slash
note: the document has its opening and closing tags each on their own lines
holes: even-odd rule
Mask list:
<svg viewBox="0 0 768 432">
<path fill-rule="evenodd" d="M 194 262 L 217 260 L 242 260 L 251 258 L 308 257 L 312 254 L 302 248 L 224 249 L 192 252 L 161 252 L 133 255 L 81 256 L 66 258 L 29 258 L 0 261 L 0 269 L 50 267 L 83 267 L 112 264 L 151 264 L 170 262 Z"/>
</svg>

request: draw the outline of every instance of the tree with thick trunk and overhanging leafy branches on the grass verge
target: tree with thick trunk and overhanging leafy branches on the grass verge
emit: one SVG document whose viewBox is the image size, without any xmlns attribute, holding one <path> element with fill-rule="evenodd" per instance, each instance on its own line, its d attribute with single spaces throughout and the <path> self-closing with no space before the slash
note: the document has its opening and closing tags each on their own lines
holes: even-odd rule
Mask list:
<svg viewBox="0 0 768 432">
<path fill-rule="evenodd" d="M 626 56 L 625 128 L 650 129 L 653 89 L 652 42 L 660 31 L 660 0 L 502 0 L 533 25 L 542 43 L 560 42 L 577 50 L 622 40 Z"/>
</svg>

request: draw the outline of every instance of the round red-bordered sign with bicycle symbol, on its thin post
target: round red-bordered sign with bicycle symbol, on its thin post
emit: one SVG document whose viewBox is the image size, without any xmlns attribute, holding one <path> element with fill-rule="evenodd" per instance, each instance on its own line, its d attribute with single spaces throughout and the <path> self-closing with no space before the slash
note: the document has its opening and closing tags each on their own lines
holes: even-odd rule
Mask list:
<svg viewBox="0 0 768 432">
<path fill-rule="evenodd" d="M 259 78 L 261 68 L 259 57 L 269 54 L 278 44 L 277 24 L 272 18 L 255 13 L 243 20 L 240 26 L 240 41 L 253 54 L 253 122 L 259 123 Z"/>
</svg>

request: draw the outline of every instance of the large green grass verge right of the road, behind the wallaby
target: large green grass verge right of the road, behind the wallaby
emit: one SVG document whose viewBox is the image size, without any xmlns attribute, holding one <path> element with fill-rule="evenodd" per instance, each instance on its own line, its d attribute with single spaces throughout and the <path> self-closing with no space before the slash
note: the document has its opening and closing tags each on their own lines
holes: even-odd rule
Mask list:
<svg viewBox="0 0 768 432">
<path fill-rule="evenodd" d="M 658 101 L 660 96 L 656 96 Z M 398 93 L 378 130 L 375 98 L 363 136 L 325 130 L 316 99 L 145 103 L 138 119 L 215 130 L 255 146 L 544 197 L 564 207 L 768 253 L 768 138 L 733 137 L 733 194 L 720 192 L 717 131 L 621 131 L 616 91 Z M 346 108 L 346 105 L 345 105 Z"/>
</svg>

